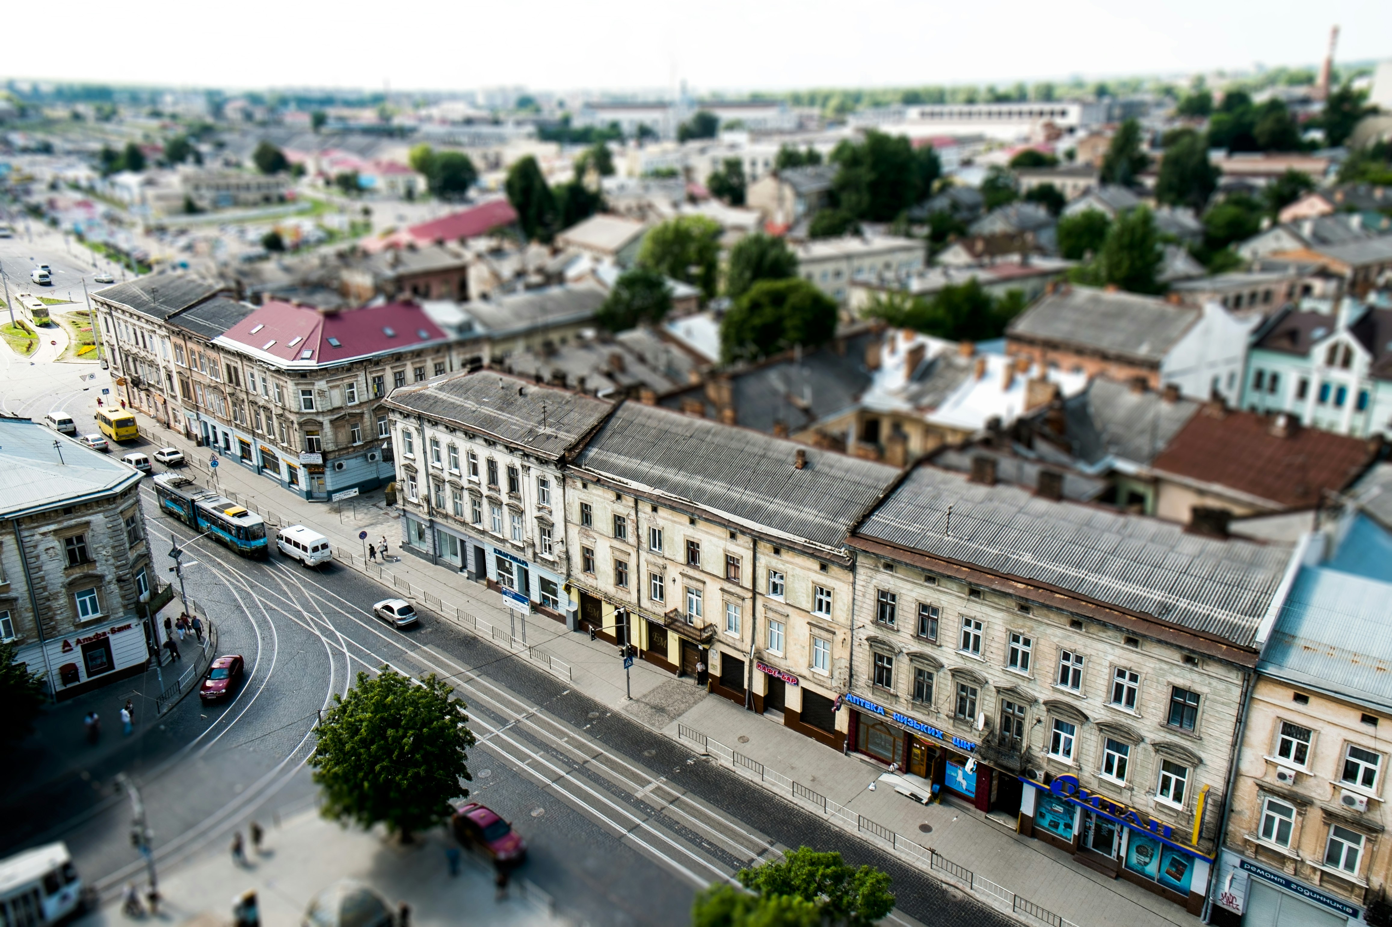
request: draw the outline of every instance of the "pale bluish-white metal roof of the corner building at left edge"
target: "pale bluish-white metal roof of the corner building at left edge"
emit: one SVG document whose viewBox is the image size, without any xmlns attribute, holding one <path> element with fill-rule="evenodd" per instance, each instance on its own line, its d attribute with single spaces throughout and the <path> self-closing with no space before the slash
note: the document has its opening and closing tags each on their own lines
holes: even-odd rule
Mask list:
<svg viewBox="0 0 1392 927">
<path fill-rule="evenodd" d="M 25 418 L 0 418 L 0 517 L 71 504 L 71 499 L 116 492 L 139 481 L 141 473 L 113 454 L 84 448 Z"/>
</svg>

